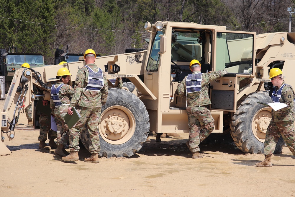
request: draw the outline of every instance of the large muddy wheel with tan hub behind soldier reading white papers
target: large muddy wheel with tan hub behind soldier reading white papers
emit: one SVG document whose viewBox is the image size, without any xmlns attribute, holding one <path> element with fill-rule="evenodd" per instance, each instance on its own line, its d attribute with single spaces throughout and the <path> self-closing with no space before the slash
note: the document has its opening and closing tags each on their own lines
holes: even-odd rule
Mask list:
<svg viewBox="0 0 295 197">
<path fill-rule="evenodd" d="M 231 136 L 236 146 L 245 153 L 264 153 L 265 134 L 271 120 L 271 108 L 258 104 L 271 102 L 268 92 L 260 91 L 248 95 L 232 116 Z M 276 152 L 282 151 L 285 142 L 281 139 Z"/>
</svg>

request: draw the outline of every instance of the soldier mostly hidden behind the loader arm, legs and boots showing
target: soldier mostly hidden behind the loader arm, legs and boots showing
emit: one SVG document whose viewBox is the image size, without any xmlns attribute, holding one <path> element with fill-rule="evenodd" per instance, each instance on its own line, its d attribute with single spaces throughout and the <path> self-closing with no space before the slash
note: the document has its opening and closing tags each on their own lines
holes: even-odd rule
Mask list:
<svg viewBox="0 0 295 197">
<path fill-rule="evenodd" d="M 43 102 L 43 105 L 48 105 L 48 100 L 42 100 L 42 102 Z M 39 123 L 40 123 L 40 134 L 38 137 L 38 140 L 40 141 L 39 149 L 47 149 L 47 150 L 56 149 L 57 145 L 54 142 L 54 139 L 56 138 L 56 132 L 51 130 L 50 115 L 40 112 Z M 47 144 L 45 144 L 45 141 L 47 140 L 47 134 L 49 139 L 48 146 Z"/>
</svg>

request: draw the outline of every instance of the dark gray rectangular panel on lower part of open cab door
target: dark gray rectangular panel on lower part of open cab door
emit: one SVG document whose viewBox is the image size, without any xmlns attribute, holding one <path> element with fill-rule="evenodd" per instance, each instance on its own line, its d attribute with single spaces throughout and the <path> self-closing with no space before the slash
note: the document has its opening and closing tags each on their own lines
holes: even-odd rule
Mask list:
<svg viewBox="0 0 295 197">
<path fill-rule="evenodd" d="M 233 90 L 214 90 L 211 91 L 211 108 L 234 110 L 234 91 Z"/>
</svg>

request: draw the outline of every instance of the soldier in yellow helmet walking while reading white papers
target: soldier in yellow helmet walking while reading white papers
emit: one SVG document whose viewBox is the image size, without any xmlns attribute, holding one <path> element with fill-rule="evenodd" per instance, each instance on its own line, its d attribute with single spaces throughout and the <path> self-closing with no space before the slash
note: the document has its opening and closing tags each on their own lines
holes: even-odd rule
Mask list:
<svg viewBox="0 0 295 197">
<path fill-rule="evenodd" d="M 277 111 L 271 111 L 272 119 L 267 128 L 264 141 L 265 159 L 255 164 L 258 167 L 272 167 L 271 155 L 281 135 L 295 156 L 294 90 L 284 82 L 282 74 L 283 72 L 278 68 L 273 68 L 269 71 L 269 78 L 273 86 L 275 86 L 269 91 L 271 100 L 284 103 L 287 106 Z"/>
</svg>

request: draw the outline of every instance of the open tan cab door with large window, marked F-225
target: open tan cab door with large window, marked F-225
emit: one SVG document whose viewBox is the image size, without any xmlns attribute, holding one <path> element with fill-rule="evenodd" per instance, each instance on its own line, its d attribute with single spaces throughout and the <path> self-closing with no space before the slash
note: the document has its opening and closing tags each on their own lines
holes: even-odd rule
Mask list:
<svg viewBox="0 0 295 197">
<path fill-rule="evenodd" d="M 235 112 L 237 94 L 254 77 L 255 32 L 216 31 L 212 42 L 214 71 L 226 75 L 210 83 L 211 110 Z"/>
</svg>

